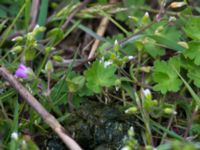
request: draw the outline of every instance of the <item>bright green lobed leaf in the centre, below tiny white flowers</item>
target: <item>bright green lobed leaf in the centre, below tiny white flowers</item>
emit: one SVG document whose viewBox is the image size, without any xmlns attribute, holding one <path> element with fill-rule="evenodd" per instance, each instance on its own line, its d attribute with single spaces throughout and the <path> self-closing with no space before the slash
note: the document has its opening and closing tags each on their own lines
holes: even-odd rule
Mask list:
<svg viewBox="0 0 200 150">
<path fill-rule="evenodd" d="M 111 87 L 115 85 L 117 77 L 115 76 L 116 67 L 113 65 L 104 66 L 104 63 L 95 61 L 92 66 L 85 71 L 87 87 L 95 93 L 100 93 L 102 87 Z"/>
</svg>

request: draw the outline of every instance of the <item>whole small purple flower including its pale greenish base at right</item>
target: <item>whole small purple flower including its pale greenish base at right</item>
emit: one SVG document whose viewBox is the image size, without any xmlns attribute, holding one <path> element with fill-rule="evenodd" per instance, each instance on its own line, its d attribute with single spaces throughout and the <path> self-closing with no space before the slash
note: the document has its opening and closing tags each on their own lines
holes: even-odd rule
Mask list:
<svg viewBox="0 0 200 150">
<path fill-rule="evenodd" d="M 15 72 L 15 76 L 18 78 L 33 79 L 34 73 L 31 68 L 26 67 L 24 64 L 20 64 Z"/>
</svg>

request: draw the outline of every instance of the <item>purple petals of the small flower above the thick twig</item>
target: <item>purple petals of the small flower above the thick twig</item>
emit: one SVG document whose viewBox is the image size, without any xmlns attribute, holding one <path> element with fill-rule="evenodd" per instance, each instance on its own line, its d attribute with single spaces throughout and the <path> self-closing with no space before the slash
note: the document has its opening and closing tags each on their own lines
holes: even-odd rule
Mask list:
<svg viewBox="0 0 200 150">
<path fill-rule="evenodd" d="M 24 64 L 20 64 L 19 67 L 17 68 L 15 75 L 18 78 L 27 78 L 28 74 L 30 72 L 30 69 L 27 68 Z"/>
</svg>

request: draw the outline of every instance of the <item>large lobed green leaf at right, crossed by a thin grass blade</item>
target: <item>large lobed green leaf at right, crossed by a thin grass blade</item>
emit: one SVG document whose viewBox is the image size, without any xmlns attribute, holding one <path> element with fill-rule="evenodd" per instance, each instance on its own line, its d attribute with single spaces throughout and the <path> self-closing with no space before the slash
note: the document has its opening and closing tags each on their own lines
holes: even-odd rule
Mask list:
<svg viewBox="0 0 200 150">
<path fill-rule="evenodd" d="M 173 66 L 178 72 L 180 71 L 179 57 L 173 57 L 168 62 L 155 61 L 153 72 L 153 80 L 157 83 L 153 87 L 155 91 L 165 94 L 168 91 L 177 92 L 179 90 L 182 82 L 172 68 Z"/>
</svg>

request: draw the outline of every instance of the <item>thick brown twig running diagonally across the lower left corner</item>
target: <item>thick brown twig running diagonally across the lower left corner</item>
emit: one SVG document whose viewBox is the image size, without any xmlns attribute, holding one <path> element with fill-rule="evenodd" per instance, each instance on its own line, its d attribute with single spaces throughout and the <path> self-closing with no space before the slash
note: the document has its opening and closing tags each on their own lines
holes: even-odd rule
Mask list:
<svg viewBox="0 0 200 150">
<path fill-rule="evenodd" d="M 66 134 L 66 130 L 51 115 L 38 101 L 30 94 L 30 92 L 24 88 L 24 86 L 16 80 L 16 78 L 3 66 L 0 66 L 0 76 L 7 80 L 21 95 L 21 97 L 31 106 L 36 112 L 44 119 L 44 121 L 54 130 L 54 132 L 62 139 L 62 141 L 68 146 L 70 150 L 82 150 L 82 148 Z"/>
</svg>

